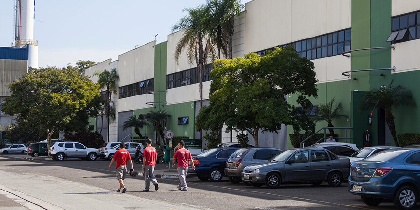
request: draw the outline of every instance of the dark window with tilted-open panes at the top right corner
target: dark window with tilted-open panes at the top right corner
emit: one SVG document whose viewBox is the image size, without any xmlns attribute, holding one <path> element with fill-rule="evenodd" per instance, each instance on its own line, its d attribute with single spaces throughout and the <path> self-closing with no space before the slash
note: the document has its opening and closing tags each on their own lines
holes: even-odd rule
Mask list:
<svg viewBox="0 0 420 210">
<path fill-rule="evenodd" d="M 420 10 L 392 17 L 391 34 L 386 41 L 399 43 L 420 38 Z"/>
</svg>

